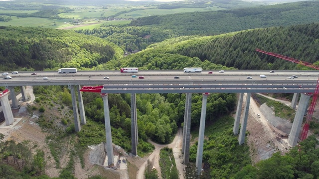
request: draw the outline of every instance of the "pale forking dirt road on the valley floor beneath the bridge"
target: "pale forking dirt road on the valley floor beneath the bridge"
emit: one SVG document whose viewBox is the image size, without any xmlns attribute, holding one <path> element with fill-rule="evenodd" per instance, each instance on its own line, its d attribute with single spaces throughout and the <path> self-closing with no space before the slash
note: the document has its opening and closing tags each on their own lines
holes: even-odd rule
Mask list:
<svg viewBox="0 0 319 179">
<path fill-rule="evenodd" d="M 175 135 L 175 138 L 173 140 L 173 142 L 171 142 L 170 144 L 157 144 L 155 142 L 149 141 L 151 144 L 153 144 L 155 146 L 155 150 L 154 152 L 148 157 L 147 160 L 150 160 L 152 163 L 154 163 L 154 168 L 156 168 L 156 170 L 159 172 L 159 177 L 161 179 L 161 171 L 160 171 L 160 149 L 164 148 L 164 147 L 169 147 L 173 149 L 173 155 L 175 158 L 175 163 L 176 163 L 176 167 L 177 170 L 179 172 L 179 179 L 184 179 L 183 176 L 183 165 L 180 163 L 179 160 L 179 153 L 181 151 L 181 141 L 182 141 L 182 130 L 178 129 L 177 134 Z M 144 164 L 139 168 L 139 171 L 137 173 L 137 179 L 144 179 L 144 171 L 145 171 L 145 167 L 146 167 L 147 161 L 144 162 Z"/>
</svg>

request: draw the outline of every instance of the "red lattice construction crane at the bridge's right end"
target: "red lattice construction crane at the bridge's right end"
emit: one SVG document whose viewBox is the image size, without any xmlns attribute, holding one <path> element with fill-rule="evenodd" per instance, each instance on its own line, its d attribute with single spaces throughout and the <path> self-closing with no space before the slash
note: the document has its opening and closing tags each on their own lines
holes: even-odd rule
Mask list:
<svg viewBox="0 0 319 179">
<path fill-rule="evenodd" d="M 293 63 L 297 63 L 297 64 L 300 64 L 300 65 L 304 65 L 304 66 L 319 70 L 319 66 L 318 65 L 314 65 L 314 64 L 311 64 L 309 62 L 304 62 L 304 61 L 297 60 L 297 59 L 294 59 L 294 58 L 291 58 L 291 57 L 286 57 L 284 55 L 276 54 L 274 52 L 266 52 L 266 51 L 263 51 L 263 50 L 260 50 L 260 49 L 256 49 L 256 51 L 264 53 L 264 54 L 267 54 L 267 55 L 271 55 L 271 56 L 274 56 L 274 57 L 278 57 L 278 58 L 281 58 L 281 59 L 284 59 L 284 60 L 287 60 L 287 61 L 290 61 L 290 62 L 293 62 Z M 316 106 L 316 103 L 317 103 L 318 93 L 319 93 L 319 78 L 317 80 L 317 85 L 316 85 L 315 92 L 314 93 L 307 93 L 307 95 L 314 95 L 314 96 L 313 96 L 313 101 L 312 101 L 312 103 L 310 105 L 310 108 L 309 108 L 309 111 L 308 111 L 307 119 L 306 119 L 306 122 L 305 122 L 305 125 L 304 125 L 304 128 L 303 128 L 303 132 L 301 134 L 301 140 L 302 141 L 307 138 L 308 131 L 309 131 L 309 124 L 310 124 L 310 121 L 311 121 L 311 119 L 313 117 L 313 113 L 314 113 L 315 106 Z"/>
</svg>

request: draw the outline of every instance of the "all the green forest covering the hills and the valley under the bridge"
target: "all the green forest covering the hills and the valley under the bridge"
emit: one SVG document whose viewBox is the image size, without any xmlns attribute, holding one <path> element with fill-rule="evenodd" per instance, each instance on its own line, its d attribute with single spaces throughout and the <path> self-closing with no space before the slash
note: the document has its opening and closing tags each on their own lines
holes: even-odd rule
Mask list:
<svg viewBox="0 0 319 179">
<path fill-rule="evenodd" d="M 75 32 L 0 26 L 0 71 L 42 71 L 68 67 L 117 70 L 133 66 L 141 70 L 179 70 L 195 66 L 204 70 L 310 70 L 261 54 L 255 49 L 318 63 L 318 9 L 318 0 L 302 1 L 247 9 L 149 16 L 132 21 L 130 25 Z M 70 90 L 66 86 L 34 87 L 33 90 L 37 97 L 36 105 L 30 106 L 28 111 L 45 113 L 54 106 L 59 106 L 57 113 L 68 111 L 63 118 L 41 116 L 37 121 L 49 134 L 47 143 L 57 166 L 60 168 L 61 156 L 57 151 L 61 145 L 56 144 L 69 139 L 74 141 L 71 158 L 78 157 L 84 168 L 83 151 L 86 146 L 106 141 L 100 95 L 83 93 L 87 124 L 75 133 L 70 116 Z M 136 97 L 138 155 L 143 157 L 154 150 L 148 139 L 168 144 L 178 128 L 183 126 L 185 94 L 138 94 Z M 201 99 L 202 94 L 192 94 L 191 130 L 198 129 Z M 113 143 L 130 152 L 131 96 L 110 94 L 108 100 Z M 252 166 L 249 146 L 239 146 L 237 136 L 232 134 L 234 119 L 231 114 L 236 102 L 235 93 L 213 93 L 207 99 L 208 133 L 205 131 L 207 138 L 204 141 L 203 162 L 208 167 L 205 176 L 209 175 L 212 179 L 319 177 L 319 143 L 315 136 L 309 137 L 301 143 L 300 148 L 292 148 L 284 156 L 275 153 L 271 158 Z M 57 128 L 53 121 L 63 126 Z M 249 135 L 248 132 L 246 134 Z M 43 151 L 31 154 L 30 151 L 36 146 L 2 139 L 0 135 L 0 176 L 12 176 L 12 179 L 49 178 L 44 175 Z M 197 143 L 190 147 L 191 162 L 196 160 L 196 151 Z M 171 151 L 165 149 L 162 153 L 162 162 L 165 163 L 169 159 L 164 156 L 171 155 Z M 25 163 L 15 169 L 7 165 L 8 159 L 23 160 Z M 164 164 L 162 166 L 169 168 Z M 196 178 L 191 176 L 196 169 L 188 169 L 189 176 L 185 178 Z M 61 170 L 59 178 L 73 179 L 73 173 L 74 163 L 69 162 Z M 175 173 L 173 175 L 176 176 Z"/>
</svg>

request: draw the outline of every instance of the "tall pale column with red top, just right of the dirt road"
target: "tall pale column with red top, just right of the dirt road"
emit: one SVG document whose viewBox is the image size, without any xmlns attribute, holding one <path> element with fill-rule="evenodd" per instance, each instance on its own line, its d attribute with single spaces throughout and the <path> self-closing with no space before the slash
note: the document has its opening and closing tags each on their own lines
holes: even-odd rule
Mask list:
<svg viewBox="0 0 319 179">
<path fill-rule="evenodd" d="M 202 105 L 201 105 L 198 144 L 197 144 L 197 155 L 196 155 L 196 167 L 197 167 L 198 176 L 200 176 L 201 165 L 202 165 L 202 161 L 203 161 L 204 133 L 205 133 L 205 120 L 206 120 L 206 104 L 207 104 L 208 95 L 209 94 L 203 93 L 203 102 L 202 102 Z"/>
</svg>

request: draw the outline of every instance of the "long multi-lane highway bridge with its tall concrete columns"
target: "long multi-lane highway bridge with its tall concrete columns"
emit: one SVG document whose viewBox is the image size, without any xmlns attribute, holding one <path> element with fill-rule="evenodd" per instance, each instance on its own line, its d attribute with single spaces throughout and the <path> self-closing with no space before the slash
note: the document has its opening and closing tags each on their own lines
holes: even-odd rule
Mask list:
<svg viewBox="0 0 319 179">
<path fill-rule="evenodd" d="M 210 92 L 236 92 L 240 93 L 238 107 L 236 111 L 233 133 L 238 135 L 239 121 L 242 112 L 243 93 L 247 93 L 245 109 L 243 113 L 243 123 L 240 128 L 238 142 L 243 144 L 245 141 L 245 132 L 248 118 L 248 110 L 251 92 L 283 92 L 295 93 L 292 103 L 297 103 L 298 96 L 301 94 L 298 110 L 294 119 L 293 128 L 289 137 L 289 144 L 295 146 L 298 141 L 302 120 L 309 103 L 310 95 L 315 91 L 318 71 L 269 71 L 261 70 L 225 70 L 219 73 L 212 70 L 212 74 L 208 71 L 201 73 L 184 73 L 182 70 L 140 70 L 138 73 L 120 73 L 120 71 L 78 71 L 75 74 L 58 74 L 57 71 L 42 72 L 19 72 L 18 74 L 10 74 L 11 79 L 0 79 L 0 86 L 6 87 L 8 91 L 0 94 L 3 112 L 5 113 L 6 124 L 13 122 L 13 115 L 7 95 L 10 92 L 12 106 L 18 107 L 14 87 L 20 86 L 23 93 L 24 86 L 54 86 L 67 85 L 71 89 L 73 114 L 75 130 L 80 131 L 81 125 L 85 124 L 85 113 L 80 89 L 82 86 L 102 86 L 99 90 L 104 101 L 105 127 L 108 153 L 108 164 L 114 163 L 113 147 L 111 137 L 111 125 L 108 106 L 108 93 L 131 93 L 131 116 L 132 116 L 132 154 L 137 155 L 138 133 L 137 133 L 137 114 L 136 114 L 136 93 L 186 93 L 184 129 L 183 129 L 183 163 L 189 162 L 189 134 L 190 134 L 190 113 L 191 113 L 191 93 L 203 93 L 202 113 L 199 131 L 198 151 L 196 166 L 201 166 L 202 150 L 203 150 L 203 129 L 205 123 L 206 101 Z M 31 75 L 37 73 L 36 75 Z M 143 76 L 145 79 L 132 78 L 132 75 Z M 260 75 L 266 75 L 261 78 Z M 292 75 L 298 76 L 295 79 L 289 79 Z M 178 76 L 179 79 L 174 79 Z M 47 77 L 48 80 L 44 80 Z M 109 79 L 104 79 L 109 77 Z M 247 79 L 251 77 L 251 79 Z M 77 99 L 75 92 L 78 92 L 78 102 L 80 118 L 77 108 Z M 26 96 L 26 94 L 22 94 Z M 15 98 L 15 100 L 14 100 Z M 25 98 L 25 97 L 24 97 Z M 26 99 L 26 98 L 25 98 Z"/>
</svg>

